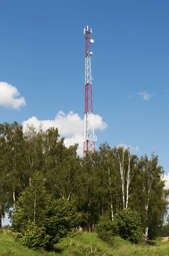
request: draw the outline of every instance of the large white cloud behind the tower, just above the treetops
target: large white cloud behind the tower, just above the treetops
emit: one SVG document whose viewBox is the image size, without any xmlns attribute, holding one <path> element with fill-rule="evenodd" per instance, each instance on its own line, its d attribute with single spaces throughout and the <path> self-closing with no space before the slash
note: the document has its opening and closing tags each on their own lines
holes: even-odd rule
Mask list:
<svg viewBox="0 0 169 256">
<path fill-rule="evenodd" d="M 102 121 L 102 117 L 99 115 L 93 115 L 95 130 L 103 131 L 107 128 L 107 123 Z M 37 117 L 32 116 L 26 121 L 23 121 L 23 128 L 26 128 L 26 124 L 33 124 L 35 127 L 39 127 L 42 124 L 42 129 L 45 131 L 50 127 L 57 127 L 59 134 L 65 137 L 65 145 L 68 147 L 74 143 L 79 143 L 78 154 L 82 156 L 83 153 L 83 133 L 84 133 L 84 119 L 77 113 L 70 111 L 65 114 L 63 111 L 59 111 L 54 120 L 38 120 Z"/>
</svg>

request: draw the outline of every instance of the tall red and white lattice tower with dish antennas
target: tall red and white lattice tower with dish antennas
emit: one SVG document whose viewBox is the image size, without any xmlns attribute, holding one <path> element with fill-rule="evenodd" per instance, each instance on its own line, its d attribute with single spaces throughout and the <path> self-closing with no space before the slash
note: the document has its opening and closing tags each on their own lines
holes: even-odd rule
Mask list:
<svg viewBox="0 0 169 256">
<path fill-rule="evenodd" d="M 92 100 L 92 76 L 91 76 L 91 62 L 90 57 L 90 44 L 94 42 L 90 39 L 92 29 L 84 29 L 85 35 L 85 130 L 84 130 L 84 146 L 83 146 L 83 158 L 89 152 L 95 152 L 95 141 L 97 140 L 94 135 L 94 123 L 93 123 L 93 100 Z"/>
</svg>

